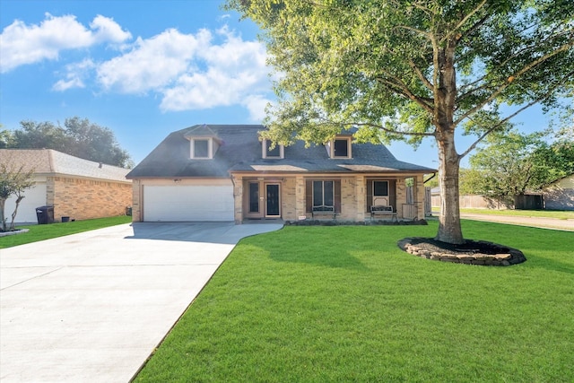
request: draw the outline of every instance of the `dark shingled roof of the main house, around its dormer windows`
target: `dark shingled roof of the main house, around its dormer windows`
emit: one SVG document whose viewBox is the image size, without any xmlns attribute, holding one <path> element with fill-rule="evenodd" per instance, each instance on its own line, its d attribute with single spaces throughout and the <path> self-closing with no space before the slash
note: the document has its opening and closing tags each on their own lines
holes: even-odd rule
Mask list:
<svg viewBox="0 0 574 383">
<path fill-rule="evenodd" d="M 207 130 L 209 129 L 209 130 Z M 383 144 L 353 144 L 352 159 L 330 159 L 323 145 L 297 142 L 284 148 L 283 159 L 263 159 L 258 132 L 262 125 L 190 126 L 168 135 L 126 178 L 228 178 L 230 172 L 414 172 L 436 171 L 398 161 Z M 210 160 L 190 159 L 187 137 L 213 132 L 221 146 Z M 198 135 L 202 134 L 202 135 Z"/>
</svg>

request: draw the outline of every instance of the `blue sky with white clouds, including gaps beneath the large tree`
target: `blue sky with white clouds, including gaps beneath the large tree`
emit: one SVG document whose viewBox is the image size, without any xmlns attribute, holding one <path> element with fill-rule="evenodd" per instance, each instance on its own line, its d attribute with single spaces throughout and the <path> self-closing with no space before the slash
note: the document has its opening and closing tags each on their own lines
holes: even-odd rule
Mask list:
<svg viewBox="0 0 574 383">
<path fill-rule="evenodd" d="M 216 0 L 0 1 L 0 124 L 88 118 L 109 127 L 135 163 L 170 132 L 259 124 L 274 100 L 257 26 Z M 540 109 L 515 119 L 543 129 Z M 459 137 L 463 152 L 469 139 Z M 390 146 L 437 167 L 426 139 Z"/>
</svg>

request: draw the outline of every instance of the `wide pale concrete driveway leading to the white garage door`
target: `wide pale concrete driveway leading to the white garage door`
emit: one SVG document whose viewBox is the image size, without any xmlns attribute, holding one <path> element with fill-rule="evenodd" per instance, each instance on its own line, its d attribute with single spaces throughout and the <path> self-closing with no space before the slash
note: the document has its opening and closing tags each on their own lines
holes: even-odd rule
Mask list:
<svg viewBox="0 0 574 383">
<path fill-rule="evenodd" d="M 135 223 L 0 249 L 0 380 L 129 381 L 239 239 L 281 227 Z"/>
</svg>

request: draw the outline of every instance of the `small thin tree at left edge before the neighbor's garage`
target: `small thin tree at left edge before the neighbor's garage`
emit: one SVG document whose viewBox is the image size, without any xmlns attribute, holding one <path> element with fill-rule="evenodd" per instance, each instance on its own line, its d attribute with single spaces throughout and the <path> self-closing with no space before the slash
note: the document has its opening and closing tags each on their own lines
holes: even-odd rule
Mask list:
<svg viewBox="0 0 574 383">
<path fill-rule="evenodd" d="M 16 168 L 12 164 L 0 163 L 0 222 L 2 231 L 6 231 L 4 211 L 6 200 L 10 198 L 10 196 L 16 196 L 16 207 L 12 213 L 12 222 L 10 223 L 10 230 L 13 230 L 14 220 L 18 213 L 18 206 L 24 198 L 22 192 L 34 186 L 33 176 L 34 170 L 25 171 L 24 165 L 20 168 Z"/>
</svg>

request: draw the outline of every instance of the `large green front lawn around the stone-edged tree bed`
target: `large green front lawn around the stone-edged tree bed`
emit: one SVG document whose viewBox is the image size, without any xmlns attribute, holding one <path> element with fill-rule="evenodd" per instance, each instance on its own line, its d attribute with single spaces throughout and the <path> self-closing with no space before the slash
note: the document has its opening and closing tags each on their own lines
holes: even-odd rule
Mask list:
<svg viewBox="0 0 574 383">
<path fill-rule="evenodd" d="M 429 226 L 285 227 L 243 239 L 138 382 L 571 382 L 571 232 L 464 221 L 520 248 L 486 267 L 396 247 Z"/>
</svg>

